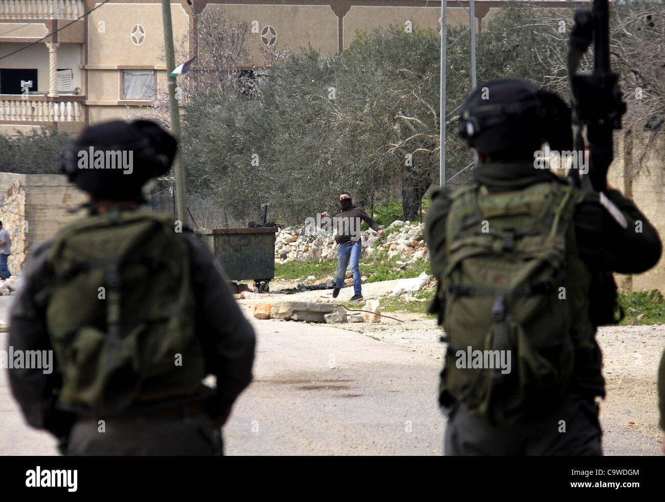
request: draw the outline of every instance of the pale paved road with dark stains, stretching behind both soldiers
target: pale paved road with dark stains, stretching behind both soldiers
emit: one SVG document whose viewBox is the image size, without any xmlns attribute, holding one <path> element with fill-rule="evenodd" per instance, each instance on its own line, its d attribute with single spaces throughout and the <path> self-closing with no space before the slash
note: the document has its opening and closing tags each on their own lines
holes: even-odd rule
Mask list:
<svg viewBox="0 0 665 502">
<path fill-rule="evenodd" d="M 0 297 L 0 320 L 9 297 Z M 255 381 L 225 427 L 229 455 L 440 455 L 440 361 L 355 332 L 256 321 Z M 0 333 L 0 348 L 7 334 Z M 25 425 L 0 370 L 0 455 L 54 455 L 48 433 Z M 657 455 L 660 444 L 604 419 L 604 451 Z"/>
</svg>

